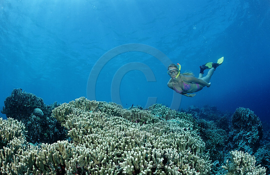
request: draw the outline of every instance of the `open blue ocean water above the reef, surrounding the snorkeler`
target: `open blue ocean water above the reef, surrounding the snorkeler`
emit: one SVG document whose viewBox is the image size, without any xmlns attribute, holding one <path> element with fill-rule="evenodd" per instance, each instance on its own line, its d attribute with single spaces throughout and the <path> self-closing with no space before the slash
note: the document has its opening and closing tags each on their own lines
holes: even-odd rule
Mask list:
<svg viewBox="0 0 270 175">
<path fill-rule="evenodd" d="M 170 107 L 174 97 L 176 108 L 244 107 L 268 120 L 269 13 L 269 1 L 252 0 L 2 0 L 0 106 L 22 88 L 46 104 L 85 96 L 147 107 L 154 97 Z M 171 62 L 198 76 L 223 56 L 195 97 L 167 87 Z"/>
</svg>

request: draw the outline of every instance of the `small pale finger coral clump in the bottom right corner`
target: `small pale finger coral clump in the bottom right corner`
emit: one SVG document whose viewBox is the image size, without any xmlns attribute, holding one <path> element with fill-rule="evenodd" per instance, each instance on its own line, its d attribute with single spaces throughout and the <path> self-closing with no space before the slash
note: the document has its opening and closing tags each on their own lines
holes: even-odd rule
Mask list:
<svg viewBox="0 0 270 175">
<path fill-rule="evenodd" d="M 255 157 L 242 151 L 231 151 L 231 163 L 229 160 L 226 162 L 226 166 L 222 166 L 225 170 L 228 170 L 226 175 L 266 175 L 265 167 L 261 165 L 255 166 Z"/>
</svg>

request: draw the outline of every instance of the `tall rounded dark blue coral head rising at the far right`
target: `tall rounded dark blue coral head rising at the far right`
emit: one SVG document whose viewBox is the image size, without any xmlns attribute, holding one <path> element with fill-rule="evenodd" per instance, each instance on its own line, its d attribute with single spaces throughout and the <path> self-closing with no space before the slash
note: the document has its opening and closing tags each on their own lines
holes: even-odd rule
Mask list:
<svg viewBox="0 0 270 175">
<path fill-rule="evenodd" d="M 260 146 L 262 124 L 253 111 L 237 108 L 232 115 L 232 128 L 229 134 L 231 150 L 240 150 L 254 154 Z"/>
</svg>

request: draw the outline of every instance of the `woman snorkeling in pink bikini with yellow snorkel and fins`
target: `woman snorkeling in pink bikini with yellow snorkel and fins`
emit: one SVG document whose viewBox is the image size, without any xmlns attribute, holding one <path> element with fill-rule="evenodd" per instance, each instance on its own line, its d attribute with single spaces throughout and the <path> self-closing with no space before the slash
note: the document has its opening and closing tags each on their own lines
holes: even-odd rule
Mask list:
<svg viewBox="0 0 270 175">
<path fill-rule="evenodd" d="M 179 94 L 185 95 L 187 97 L 194 97 L 196 94 L 187 94 L 195 93 L 203 89 L 203 87 L 210 87 L 211 83 L 209 82 L 216 68 L 221 65 L 223 62 L 223 57 L 218 59 L 217 63 L 208 62 L 200 66 L 199 77 L 194 77 L 192 72 L 185 72 L 180 74 L 181 65 L 180 64 L 170 64 L 168 67 L 168 74 L 171 79 L 168 82 L 168 87 L 173 89 Z M 205 69 L 210 69 L 205 77 L 203 73 Z"/>
</svg>

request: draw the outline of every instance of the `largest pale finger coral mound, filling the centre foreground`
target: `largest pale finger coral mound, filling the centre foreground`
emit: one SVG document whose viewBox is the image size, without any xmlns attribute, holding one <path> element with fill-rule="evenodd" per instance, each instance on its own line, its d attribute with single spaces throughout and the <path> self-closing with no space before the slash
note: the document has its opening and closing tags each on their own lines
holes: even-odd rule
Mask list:
<svg viewBox="0 0 270 175">
<path fill-rule="evenodd" d="M 183 129 L 188 115 L 177 115 L 181 122 L 169 123 L 151 111 L 78 98 L 52 113 L 72 142 L 23 147 L 11 162 L 22 168 L 11 174 L 208 174 L 205 144 L 196 130 Z"/>
</svg>

